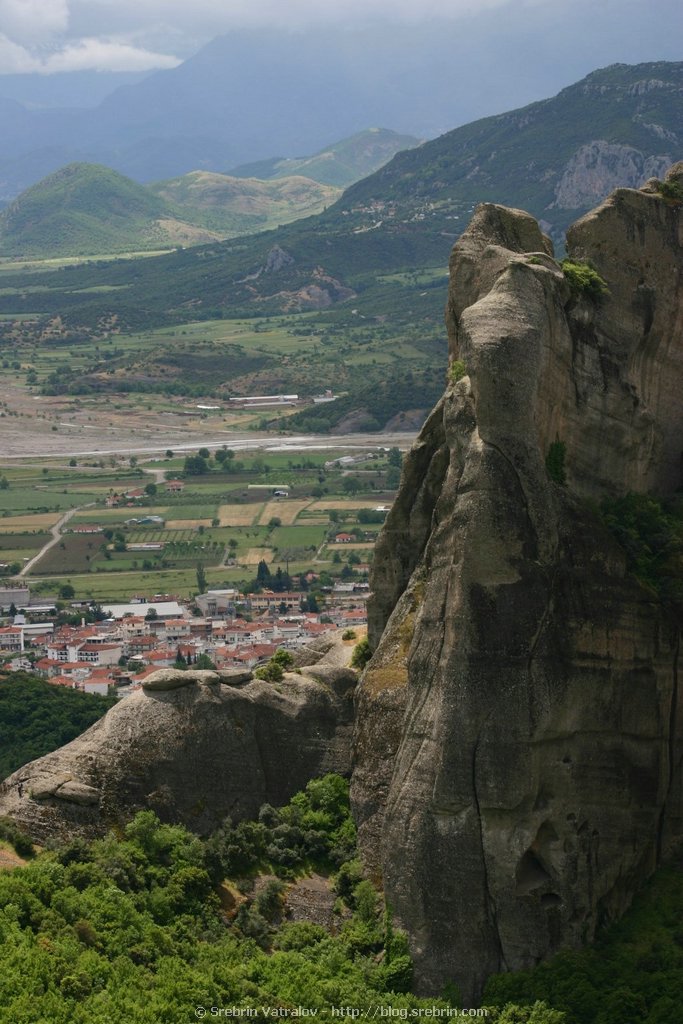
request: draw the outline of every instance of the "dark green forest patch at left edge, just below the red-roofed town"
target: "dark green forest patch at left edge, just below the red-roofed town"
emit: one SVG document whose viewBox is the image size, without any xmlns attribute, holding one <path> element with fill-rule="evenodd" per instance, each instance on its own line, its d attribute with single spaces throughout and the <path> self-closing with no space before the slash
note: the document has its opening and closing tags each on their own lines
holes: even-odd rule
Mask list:
<svg viewBox="0 0 683 1024">
<path fill-rule="evenodd" d="M 75 739 L 115 703 L 25 672 L 0 675 L 0 779 Z"/>
</svg>

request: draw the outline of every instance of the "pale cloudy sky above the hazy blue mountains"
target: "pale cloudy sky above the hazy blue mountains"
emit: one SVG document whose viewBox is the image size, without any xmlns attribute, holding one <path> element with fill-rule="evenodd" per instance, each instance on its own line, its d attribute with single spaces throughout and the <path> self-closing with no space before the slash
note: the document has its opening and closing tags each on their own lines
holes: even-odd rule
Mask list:
<svg viewBox="0 0 683 1024">
<path fill-rule="evenodd" d="M 439 17 L 460 22 L 473 46 L 490 40 L 494 48 L 514 24 L 529 61 L 546 59 L 544 35 L 557 35 L 567 53 L 584 47 L 587 68 L 681 59 L 683 50 L 674 0 L 0 0 L 0 74 L 152 71 L 175 67 L 233 28 Z"/>
</svg>

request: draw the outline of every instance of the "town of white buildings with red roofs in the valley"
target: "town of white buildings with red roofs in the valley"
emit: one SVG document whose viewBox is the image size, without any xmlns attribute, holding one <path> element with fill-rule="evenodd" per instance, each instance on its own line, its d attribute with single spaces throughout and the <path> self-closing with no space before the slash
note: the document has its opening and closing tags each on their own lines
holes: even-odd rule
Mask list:
<svg viewBox="0 0 683 1024">
<path fill-rule="evenodd" d="M 315 573 L 309 577 L 314 583 Z M 84 613 L 72 626 L 42 618 L 53 605 L 23 603 L 28 588 L 5 587 L 0 607 L 22 610 L 0 626 L 0 660 L 6 671 L 29 671 L 53 686 L 122 697 L 159 669 L 252 670 L 280 648 L 294 650 L 331 631 L 360 636 L 369 591 L 362 580 L 336 581 L 318 611 L 307 610 L 303 590 L 208 590 L 194 600 L 157 594 L 96 605 L 99 621 L 91 623 L 90 609 L 74 602 L 70 610 Z"/>
</svg>

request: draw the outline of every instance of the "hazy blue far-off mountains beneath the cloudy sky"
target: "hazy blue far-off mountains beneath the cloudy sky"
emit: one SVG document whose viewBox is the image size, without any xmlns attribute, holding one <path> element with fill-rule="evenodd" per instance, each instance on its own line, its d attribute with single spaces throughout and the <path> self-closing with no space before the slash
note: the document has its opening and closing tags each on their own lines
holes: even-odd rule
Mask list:
<svg viewBox="0 0 683 1024">
<path fill-rule="evenodd" d="M 537 19 L 543 16 L 536 11 Z M 321 26 L 233 31 L 177 68 L 115 89 L 92 109 L 48 109 L 44 83 L 20 92 L 13 77 L 5 93 L 0 78 L 6 97 L 0 98 L 0 200 L 76 161 L 104 164 L 141 182 L 196 170 L 229 173 L 245 163 L 315 153 L 371 125 L 433 138 L 542 96 L 549 74 L 541 67 L 531 76 L 520 63 L 519 27 L 510 26 L 505 58 L 518 74 L 504 91 L 493 73 L 501 41 L 477 53 L 475 28 L 433 20 L 334 32 Z M 67 103 L 79 94 L 60 76 L 46 81 Z M 93 94 L 101 96 L 97 85 Z"/>
</svg>

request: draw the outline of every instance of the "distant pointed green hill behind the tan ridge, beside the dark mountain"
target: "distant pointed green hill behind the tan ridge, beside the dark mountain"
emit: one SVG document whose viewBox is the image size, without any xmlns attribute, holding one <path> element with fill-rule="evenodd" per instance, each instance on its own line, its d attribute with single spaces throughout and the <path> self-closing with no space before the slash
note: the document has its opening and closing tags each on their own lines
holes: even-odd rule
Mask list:
<svg viewBox="0 0 683 1024">
<path fill-rule="evenodd" d="M 302 174 L 323 184 L 346 188 L 359 178 L 377 171 L 397 153 L 419 144 L 419 139 L 413 135 L 399 135 L 386 128 L 369 128 L 321 150 L 313 157 L 261 160 L 237 167 L 230 173 L 236 177 L 265 179 Z"/>
</svg>

